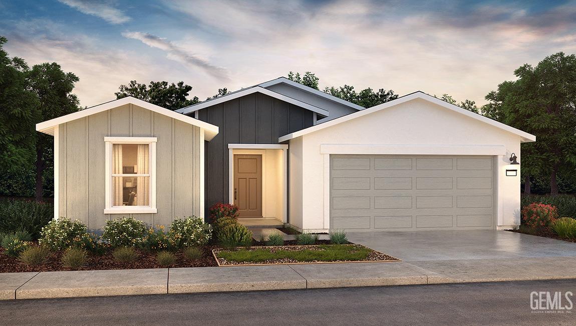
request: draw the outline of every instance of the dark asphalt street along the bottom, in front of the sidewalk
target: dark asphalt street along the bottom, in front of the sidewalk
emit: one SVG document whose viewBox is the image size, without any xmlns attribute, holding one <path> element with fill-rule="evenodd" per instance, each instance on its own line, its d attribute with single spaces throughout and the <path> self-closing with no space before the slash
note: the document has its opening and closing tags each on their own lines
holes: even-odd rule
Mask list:
<svg viewBox="0 0 576 326">
<path fill-rule="evenodd" d="M 576 294 L 576 280 L 355 287 L 0 302 L 2 325 L 369 325 L 576 323 L 530 309 L 530 293 Z M 532 299 L 535 299 L 532 297 Z M 566 300 L 562 302 L 566 304 Z M 548 310 L 550 311 L 550 310 Z M 571 311 L 572 313 L 567 313 Z"/>
</svg>

